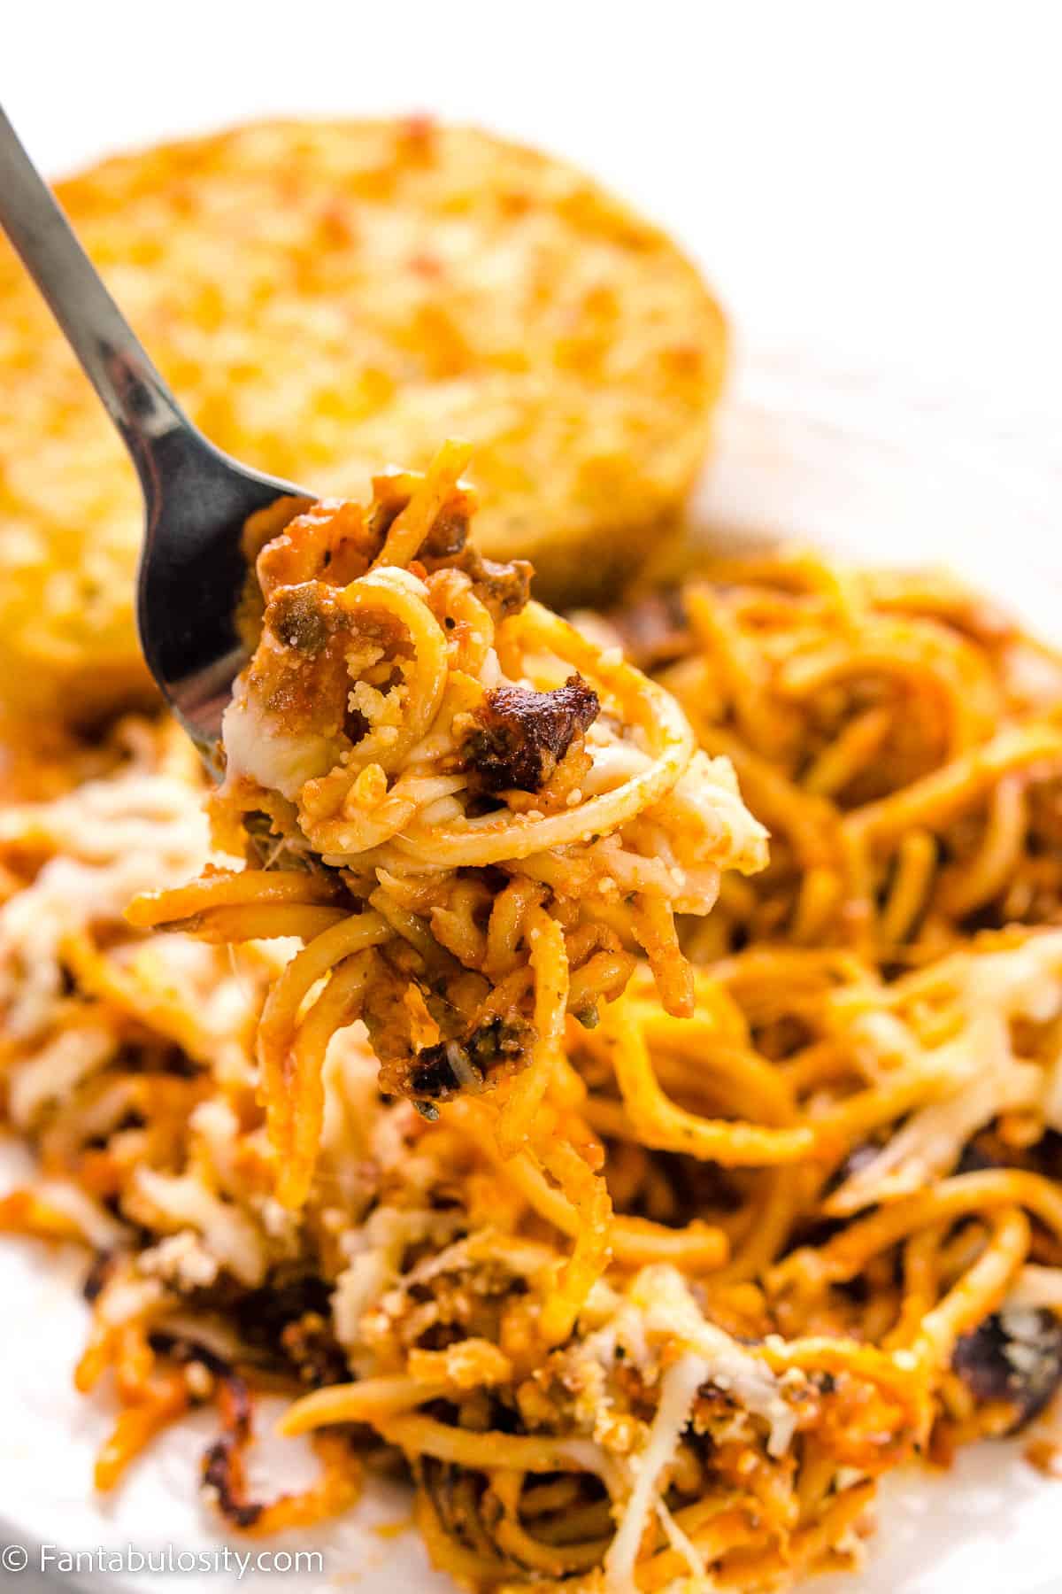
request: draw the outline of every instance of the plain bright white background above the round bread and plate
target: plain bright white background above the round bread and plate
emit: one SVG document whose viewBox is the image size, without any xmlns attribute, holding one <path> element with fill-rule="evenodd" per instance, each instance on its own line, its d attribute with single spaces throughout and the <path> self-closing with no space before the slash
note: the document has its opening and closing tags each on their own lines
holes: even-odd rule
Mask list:
<svg viewBox="0 0 1062 1594">
<path fill-rule="evenodd" d="M 670 226 L 758 357 L 873 373 L 1054 446 L 1054 0 L 6 0 L 0 14 L 0 94 L 53 174 L 283 110 L 479 121 Z"/>
</svg>

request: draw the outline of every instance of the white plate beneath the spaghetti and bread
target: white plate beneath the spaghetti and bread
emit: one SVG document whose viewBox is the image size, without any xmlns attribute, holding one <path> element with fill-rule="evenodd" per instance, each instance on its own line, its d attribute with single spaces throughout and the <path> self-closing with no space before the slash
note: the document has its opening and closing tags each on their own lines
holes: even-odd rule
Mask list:
<svg viewBox="0 0 1062 1594">
<path fill-rule="evenodd" d="M 716 461 L 699 516 L 713 534 L 764 534 L 818 542 L 873 563 L 949 564 L 1043 634 L 1060 633 L 1062 477 L 1043 450 L 1024 457 L 1013 438 L 954 406 L 896 402 L 866 383 L 815 378 L 788 360 L 758 360 L 726 406 Z M 18 1160 L 0 1146 L 0 1159 Z M 81 1264 L 83 1266 L 83 1264 Z M 72 1256 L 0 1245 L 0 1545 L 25 1545 L 24 1588 L 94 1594 L 172 1586 L 210 1588 L 207 1576 L 62 1575 L 43 1581 L 40 1545 L 159 1553 L 218 1551 L 196 1500 L 199 1454 L 212 1414 L 161 1438 L 113 1498 L 91 1490 L 105 1403 L 75 1395 L 70 1369 L 86 1312 Z M 263 1412 L 260 1428 L 267 1430 Z M 304 1452 L 288 1443 L 288 1466 Z M 275 1449 L 272 1452 L 275 1460 Z M 272 1468 L 271 1468 L 272 1471 Z M 323 1570 L 283 1576 L 290 1594 L 357 1588 L 358 1594 L 446 1594 L 414 1533 L 379 1525 L 408 1511 L 398 1487 L 371 1486 L 342 1524 L 283 1541 L 229 1540 L 232 1551 L 314 1549 Z M 817 1580 L 817 1594 L 1051 1594 L 1062 1589 L 1057 1521 L 1062 1490 L 1021 1460 L 1014 1446 L 982 1446 L 947 1474 L 908 1470 L 880 1494 L 879 1532 L 861 1578 Z M 0 1562 L 3 1556 L 0 1553 Z M 56 1562 L 51 1562 L 53 1568 Z M 228 1586 L 229 1580 L 217 1583 Z M 0 1583 L 16 1589 L 14 1578 Z M 277 1588 L 277 1573 L 248 1570 L 244 1588 Z"/>
</svg>

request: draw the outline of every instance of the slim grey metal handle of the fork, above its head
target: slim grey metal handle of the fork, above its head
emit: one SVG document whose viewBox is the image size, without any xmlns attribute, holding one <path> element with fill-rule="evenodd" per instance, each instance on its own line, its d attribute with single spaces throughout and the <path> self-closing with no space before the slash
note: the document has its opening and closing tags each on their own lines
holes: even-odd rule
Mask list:
<svg viewBox="0 0 1062 1594">
<path fill-rule="evenodd" d="M 151 501 L 162 437 L 196 430 L 76 241 L 0 105 L 0 226 L 103 400 Z"/>
</svg>

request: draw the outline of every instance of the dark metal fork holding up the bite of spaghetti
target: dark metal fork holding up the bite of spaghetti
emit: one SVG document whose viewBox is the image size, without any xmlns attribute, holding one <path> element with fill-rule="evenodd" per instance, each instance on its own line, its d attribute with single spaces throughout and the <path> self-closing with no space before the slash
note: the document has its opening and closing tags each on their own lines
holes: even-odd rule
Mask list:
<svg viewBox="0 0 1062 1594">
<path fill-rule="evenodd" d="M 140 646 L 162 697 L 218 778 L 221 714 L 248 657 L 239 625 L 250 575 L 244 528 L 260 512 L 295 515 L 317 494 L 242 465 L 193 426 L 2 107 L 0 225 L 137 469 L 145 505 Z"/>
</svg>

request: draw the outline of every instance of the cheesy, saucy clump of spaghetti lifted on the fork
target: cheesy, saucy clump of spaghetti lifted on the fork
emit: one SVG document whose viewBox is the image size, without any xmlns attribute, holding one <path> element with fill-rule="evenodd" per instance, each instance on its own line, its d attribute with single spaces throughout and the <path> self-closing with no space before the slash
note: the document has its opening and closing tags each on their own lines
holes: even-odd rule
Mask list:
<svg viewBox="0 0 1062 1594">
<path fill-rule="evenodd" d="M 707 913 L 723 869 L 766 859 L 675 701 L 529 601 L 527 566 L 467 545 L 468 456 L 449 443 L 425 477 L 377 478 L 368 513 L 317 505 L 260 550 L 261 636 L 213 815 L 229 850 L 252 818 L 283 867 L 132 909 L 139 926 L 306 942 L 258 1033 L 287 1205 L 309 1191 L 334 1030 L 363 1019 L 384 1089 L 428 1116 L 492 1087 L 514 1152 L 565 1012 L 595 1023 L 638 947 L 664 1006 L 689 1012 L 675 912 Z"/>
</svg>

